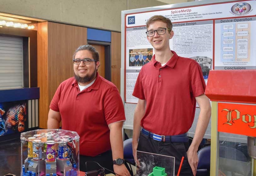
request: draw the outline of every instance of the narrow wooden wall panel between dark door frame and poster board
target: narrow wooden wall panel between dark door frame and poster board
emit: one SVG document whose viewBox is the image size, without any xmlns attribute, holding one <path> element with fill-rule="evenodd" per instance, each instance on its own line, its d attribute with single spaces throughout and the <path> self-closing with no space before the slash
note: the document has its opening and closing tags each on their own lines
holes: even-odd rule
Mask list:
<svg viewBox="0 0 256 176">
<path fill-rule="evenodd" d="M 111 82 L 120 92 L 121 79 L 121 33 L 111 32 Z"/>
</svg>

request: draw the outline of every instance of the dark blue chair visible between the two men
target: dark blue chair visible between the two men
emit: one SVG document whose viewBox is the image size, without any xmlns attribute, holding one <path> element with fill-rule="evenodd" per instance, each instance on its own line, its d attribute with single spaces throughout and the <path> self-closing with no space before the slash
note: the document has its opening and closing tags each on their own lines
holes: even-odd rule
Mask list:
<svg viewBox="0 0 256 176">
<path fill-rule="evenodd" d="M 132 165 L 135 165 L 134 157 L 133 157 L 133 147 L 132 147 L 132 139 L 127 139 L 123 141 L 123 158 L 124 164 L 131 175 L 133 174 Z M 129 164 L 129 166 L 128 166 Z"/>
</svg>

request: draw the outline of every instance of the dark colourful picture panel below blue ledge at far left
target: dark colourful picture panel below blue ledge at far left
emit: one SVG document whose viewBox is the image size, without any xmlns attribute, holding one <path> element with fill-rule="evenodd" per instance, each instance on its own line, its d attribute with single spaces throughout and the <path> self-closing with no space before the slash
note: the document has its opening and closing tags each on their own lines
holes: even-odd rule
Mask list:
<svg viewBox="0 0 256 176">
<path fill-rule="evenodd" d="M 26 101 L 0 103 L 0 136 L 25 131 Z"/>
</svg>

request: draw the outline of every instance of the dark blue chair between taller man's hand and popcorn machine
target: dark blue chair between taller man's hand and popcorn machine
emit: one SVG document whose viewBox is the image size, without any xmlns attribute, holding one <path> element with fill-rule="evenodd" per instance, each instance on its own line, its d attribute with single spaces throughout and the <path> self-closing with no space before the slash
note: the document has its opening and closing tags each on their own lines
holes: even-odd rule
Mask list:
<svg viewBox="0 0 256 176">
<path fill-rule="evenodd" d="M 211 162 L 211 146 L 205 146 L 198 152 L 198 165 L 196 176 L 210 175 L 210 162 Z"/>
</svg>

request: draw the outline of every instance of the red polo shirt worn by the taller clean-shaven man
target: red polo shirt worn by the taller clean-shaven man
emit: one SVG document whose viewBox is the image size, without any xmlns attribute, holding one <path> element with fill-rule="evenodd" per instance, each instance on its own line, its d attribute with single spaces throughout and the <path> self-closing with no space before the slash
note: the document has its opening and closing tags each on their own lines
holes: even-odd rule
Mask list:
<svg viewBox="0 0 256 176">
<path fill-rule="evenodd" d="M 159 135 L 186 133 L 194 120 L 195 97 L 204 94 L 205 81 L 200 65 L 176 52 L 162 67 L 152 57 L 138 75 L 133 96 L 146 100 L 141 126 Z"/>
</svg>

